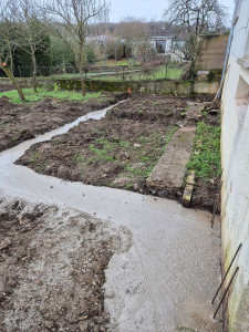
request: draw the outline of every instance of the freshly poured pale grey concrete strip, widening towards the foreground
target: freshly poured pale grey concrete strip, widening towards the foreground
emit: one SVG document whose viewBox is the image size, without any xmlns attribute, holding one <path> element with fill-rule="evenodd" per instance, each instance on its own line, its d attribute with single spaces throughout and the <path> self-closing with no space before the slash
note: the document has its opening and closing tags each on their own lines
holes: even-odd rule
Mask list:
<svg viewBox="0 0 249 332">
<path fill-rule="evenodd" d="M 84 116 L 100 118 L 107 110 Z M 125 226 L 133 245 L 114 255 L 106 271 L 105 305 L 113 331 L 164 331 L 177 326 L 220 331 L 210 304 L 220 279 L 219 229 L 210 215 L 166 199 L 42 176 L 13 165 L 29 146 L 65 133 L 53 131 L 0 154 L 0 191 L 31 203 L 76 208 Z"/>
</svg>

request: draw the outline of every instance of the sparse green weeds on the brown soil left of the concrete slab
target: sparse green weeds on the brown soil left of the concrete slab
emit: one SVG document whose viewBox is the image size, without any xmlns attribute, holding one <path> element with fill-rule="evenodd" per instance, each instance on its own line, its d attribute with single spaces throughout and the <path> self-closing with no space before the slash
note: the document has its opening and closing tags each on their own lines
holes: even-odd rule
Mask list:
<svg viewBox="0 0 249 332">
<path fill-rule="evenodd" d="M 126 176 L 132 183 L 145 181 L 158 163 L 168 142 L 176 132 L 170 127 L 166 133 L 155 133 L 149 136 L 141 136 L 129 142 L 122 137 L 114 137 L 112 141 L 95 138 L 89 145 L 86 164 L 115 163 L 123 166 L 120 176 Z M 128 156 L 123 159 L 123 156 Z M 128 186 L 127 185 L 127 186 Z M 128 188 L 128 187 L 126 187 Z"/>
</svg>

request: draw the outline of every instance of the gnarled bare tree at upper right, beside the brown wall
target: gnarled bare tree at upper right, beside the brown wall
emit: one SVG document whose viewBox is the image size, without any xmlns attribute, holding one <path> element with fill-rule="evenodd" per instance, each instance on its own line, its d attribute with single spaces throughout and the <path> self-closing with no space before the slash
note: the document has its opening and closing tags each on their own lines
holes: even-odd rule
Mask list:
<svg viewBox="0 0 249 332">
<path fill-rule="evenodd" d="M 165 19 L 187 31 L 186 55 L 189 60 L 189 77 L 195 77 L 196 60 L 205 35 L 216 32 L 226 20 L 226 9 L 218 0 L 169 0 Z"/>
</svg>

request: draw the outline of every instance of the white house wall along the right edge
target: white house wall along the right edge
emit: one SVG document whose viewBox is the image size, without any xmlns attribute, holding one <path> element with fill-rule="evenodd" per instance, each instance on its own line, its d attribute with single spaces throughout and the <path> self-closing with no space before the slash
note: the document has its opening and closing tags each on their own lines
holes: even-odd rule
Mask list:
<svg viewBox="0 0 249 332">
<path fill-rule="evenodd" d="M 221 240 L 222 269 L 227 270 L 239 243 L 242 248 L 228 274 L 239 272 L 225 301 L 225 331 L 249 331 L 249 68 L 238 63 L 247 55 L 249 1 L 240 1 L 221 98 Z M 247 98 L 248 95 L 248 98 Z"/>
</svg>

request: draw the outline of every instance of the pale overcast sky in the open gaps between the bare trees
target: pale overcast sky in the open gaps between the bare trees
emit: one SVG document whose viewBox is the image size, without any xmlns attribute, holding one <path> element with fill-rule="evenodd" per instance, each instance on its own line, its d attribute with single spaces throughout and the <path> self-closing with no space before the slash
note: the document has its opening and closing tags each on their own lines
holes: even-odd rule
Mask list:
<svg viewBox="0 0 249 332">
<path fill-rule="evenodd" d="M 120 22 L 127 15 L 145 18 L 147 21 L 160 20 L 162 13 L 167 8 L 168 0 L 111 0 L 111 22 Z M 234 0 L 219 0 L 222 6 L 228 7 L 229 14 L 232 14 Z"/>
</svg>

